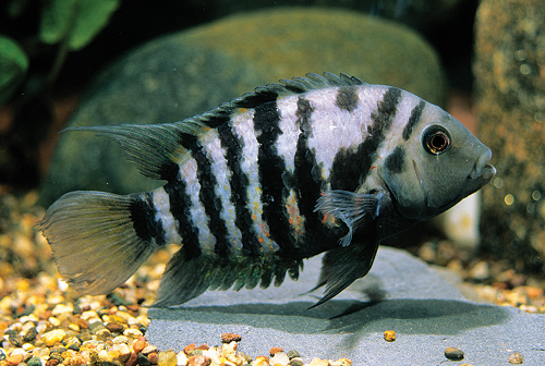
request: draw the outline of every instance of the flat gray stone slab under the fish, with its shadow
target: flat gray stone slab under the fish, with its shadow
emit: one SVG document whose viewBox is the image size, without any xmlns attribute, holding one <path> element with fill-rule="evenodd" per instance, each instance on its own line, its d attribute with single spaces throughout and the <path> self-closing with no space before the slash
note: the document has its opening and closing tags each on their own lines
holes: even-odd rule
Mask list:
<svg viewBox="0 0 545 366">
<path fill-rule="evenodd" d="M 524 364 L 545 362 L 544 315 L 470 302 L 441 274 L 404 251 L 380 247 L 370 274 L 334 300 L 312 289 L 320 258 L 305 263 L 300 280 L 268 290 L 209 291 L 175 309 L 150 309 L 146 338 L 159 350 L 217 345 L 242 335 L 239 351 L 253 357 L 270 347 L 313 357 L 350 358 L 353 365 L 438 365 L 456 346 L 474 365 L 506 365 L 512 352 Z M 386 342 L 385 330 L 397 340 Z"/>
</svg>

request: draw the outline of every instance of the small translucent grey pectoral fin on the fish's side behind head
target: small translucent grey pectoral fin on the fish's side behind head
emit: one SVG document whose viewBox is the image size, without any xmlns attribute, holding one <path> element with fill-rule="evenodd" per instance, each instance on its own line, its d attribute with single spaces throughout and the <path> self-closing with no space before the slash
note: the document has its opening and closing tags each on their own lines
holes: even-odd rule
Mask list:
<svg viewBox="0 0 545 366">
<path fill-rule="evenodd" d="M 384 193 L 354 193 L 334 190 L 318 198 L 315 211 L 330 215 L 348 227 L 348 234 L 340 239 L 341 246 L 349 246 L 356 228 L 376 219 Z"/>
</svg>

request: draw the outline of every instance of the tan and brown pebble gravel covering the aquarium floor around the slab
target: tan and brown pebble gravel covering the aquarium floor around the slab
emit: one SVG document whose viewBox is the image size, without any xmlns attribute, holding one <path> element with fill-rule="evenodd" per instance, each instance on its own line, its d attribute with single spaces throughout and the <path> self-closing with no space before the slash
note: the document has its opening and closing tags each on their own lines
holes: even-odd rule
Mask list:
<svg viewBox="0 0 545 366">
<path fill-rule="evenodd" d="M 113 293 L 77 296 L 58 277 L 47 242 L 35 228 L 44 215 L 36 200 L 36 192 L 14 195 L 0 186 L 0 366 L 351 365 L 347 358 L 319 359 L 278 344 L 264 344 L 269 350 L 265 354 L 245 355 L 238 351 L 244 338 L 235 333 L 214 334 L 218 342 L 211 345 L 194 340 L 179 353 L 158 350 L 146 341 L 146 304 L 153 303 L 175 247 L 154 254 Z M 461 285 L 483 302 L 545 313 L 541 278 L 472 257 L 445 240 L 424 243 L 417 254 L 457 272 Z"/>
</svg>

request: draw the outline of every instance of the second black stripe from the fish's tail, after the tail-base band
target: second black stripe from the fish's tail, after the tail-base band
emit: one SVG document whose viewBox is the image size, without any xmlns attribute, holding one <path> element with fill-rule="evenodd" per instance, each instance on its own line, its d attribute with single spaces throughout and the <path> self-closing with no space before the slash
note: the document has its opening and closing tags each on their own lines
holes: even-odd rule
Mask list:
<svg viewBox="0 0 545 366">
<path fill-rule="evenodd" d="M 181 251 L 183 251 L 187 259 L 199 256 L 201 246 L 198 244 L 197 228 L 191 217 L 193 204 L 187 194 L 187 185 L 180 174 L 180 169 L 178 169 L 177 179 L 167 183 L 164 188 L 169 196 L 170 212 L 174 220 L 178 221 L 178 233 L 183 243 Z"/>
</svg>

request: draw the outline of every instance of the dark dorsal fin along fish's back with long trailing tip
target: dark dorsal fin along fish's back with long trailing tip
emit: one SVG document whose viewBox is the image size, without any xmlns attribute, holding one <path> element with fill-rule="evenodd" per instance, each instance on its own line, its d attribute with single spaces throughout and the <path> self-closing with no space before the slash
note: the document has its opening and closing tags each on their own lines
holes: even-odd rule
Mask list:
<svg viewBox="0 0 545 366">
<path fill-rule="evenodd" d="M 262 103 L 277 100 L 279 97 L 306 93 L 335 86 L 363 85 L 355 76 L 332 73 L 318 75 L 306 74 L 306 77 L 281 80 L 278 83 L 256 87 L 254 91 L 225 102 L 203 114 L 181 122 L 165 124 L 120 124 L 111 126 L 78 126 L 64 131 L 93 131 L 116 139 L 129 161 L 146 176 L 171 180 L 178 171 L 177 163 L 183 159 L 184 148 L 181 139 L 184 134 L 201 136 L 209 129 L 226 123 L 234 110 L 255 108 Z M 175 171 L 174 171 L 175 169 Z"/>
</svg>

